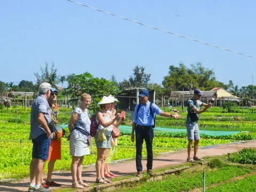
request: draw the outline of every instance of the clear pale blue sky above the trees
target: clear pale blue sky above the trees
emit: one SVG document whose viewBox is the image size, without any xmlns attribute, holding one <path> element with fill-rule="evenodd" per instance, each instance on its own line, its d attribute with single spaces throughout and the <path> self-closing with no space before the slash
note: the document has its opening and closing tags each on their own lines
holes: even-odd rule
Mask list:
<svg viewBox="0 0 256 192">
<path fill-rule="evenodd" d="M 255 1 L 75 0 L 172 33 L 256 57 Z M 162 84 L 169 66 L 202 62 L 218 81 L 256 84 L 256 59 L 203 45 L 66 0 L 0 1 L 0 81 L 36 81 L 45 61 L 60 75 L 118 82 L 135 66 Z M 17 84 L 17 83 L 16 83 Z"/>
</svg>

